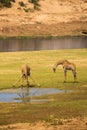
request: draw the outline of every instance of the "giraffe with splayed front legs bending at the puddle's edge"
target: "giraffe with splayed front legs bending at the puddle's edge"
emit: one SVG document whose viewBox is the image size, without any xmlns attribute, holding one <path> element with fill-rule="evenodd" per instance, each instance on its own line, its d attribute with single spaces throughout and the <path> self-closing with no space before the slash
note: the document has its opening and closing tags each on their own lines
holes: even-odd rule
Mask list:
<svg viewBox="0 0 87 130">
<path fill-rule="evenodd" d="M 31 77 L 30 67 L 29 67 L 27 64 L 22 65 L 22 68 L 21 68 L 21 76 L 20 76 L 20 78 L 16 81 L 16 83 L 15 83 L 13 86 L 15 86 L 20 80 L 22 80 L 22 85 L 23 85 L 24 79 L 26 80 L 27 86 L 29 86 L 28 77 L 30 77 L 30 78 L 33 80 L 33 82 L 35 83 L 35 85 L 40 86 L 40 85 Z"/>
</svg>

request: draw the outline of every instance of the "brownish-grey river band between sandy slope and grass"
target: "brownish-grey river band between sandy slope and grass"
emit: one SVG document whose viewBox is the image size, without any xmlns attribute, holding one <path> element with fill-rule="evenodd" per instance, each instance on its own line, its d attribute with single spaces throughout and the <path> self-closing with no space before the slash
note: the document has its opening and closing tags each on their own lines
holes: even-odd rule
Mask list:
<svg viewBox="0 0 87 130">
<path fill-rule="evenodd" d="M 0 39 L 0 52 L 87 48 L 87 37 Z"/>
</svg>

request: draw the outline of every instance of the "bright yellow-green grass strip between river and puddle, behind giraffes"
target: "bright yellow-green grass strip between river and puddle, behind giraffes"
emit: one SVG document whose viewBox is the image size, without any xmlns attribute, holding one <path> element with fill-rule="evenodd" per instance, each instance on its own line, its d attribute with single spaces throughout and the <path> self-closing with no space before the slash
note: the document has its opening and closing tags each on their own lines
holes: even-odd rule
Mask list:
<svg viewBox="0 0 87 130">
<path fill-rule="evenodd" d="M 67 59 L 77 66 L 78 83 L 73 83 L 72 72 L 68 72 L 67 83 L 64 84 L 62 66 L 53 73 L 52 67 L 58 60 Z M 86 84 L 87 79 L 87 49 L 32 51 L 32 52 L 4 52 L 0 53 L 0 89 L 11 88 L 21 75 L 21 65 L 27 63 L 31 68 L 31 75 L 41 87 L 69 87 L 74 88 Z M 34 83 L 30 80 L 30 84 Z M 19 87 L 21 82 L 17 84 Z"/>
</svg>

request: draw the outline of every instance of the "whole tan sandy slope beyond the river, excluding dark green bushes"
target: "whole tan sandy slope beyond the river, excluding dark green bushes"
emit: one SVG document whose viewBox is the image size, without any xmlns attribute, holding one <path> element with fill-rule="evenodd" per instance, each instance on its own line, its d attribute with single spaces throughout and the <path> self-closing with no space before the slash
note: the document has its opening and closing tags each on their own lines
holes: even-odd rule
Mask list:
<svg viewBox="0 0 87 130">
<path fill-rule="evenodd" d="M 87 0 L 40 0 L 40 10 L 25 12 L 18 4 L 0 10 L 0 36 L 77 35 L 87 31 Z M 23 0 L 26 8 L 33 8 Z"/>
</svg>

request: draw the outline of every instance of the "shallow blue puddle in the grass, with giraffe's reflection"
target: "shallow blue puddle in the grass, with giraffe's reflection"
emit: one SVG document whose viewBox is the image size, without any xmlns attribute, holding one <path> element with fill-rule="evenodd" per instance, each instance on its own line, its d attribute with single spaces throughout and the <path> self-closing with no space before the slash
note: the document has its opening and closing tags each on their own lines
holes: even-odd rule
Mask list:
<svg viewBox="0 0 87 130">
<path fill-rule="evenodd" d="M 19 88 L 6 89 L 0 91 L 0 102 L 43 102 L 52 101 L 52 99 L 31 99 L 34 96 L 44 94 L 56 94 L 69 92 L 69 90 L 59 90 L 57 88 Z"/>
</svg>

